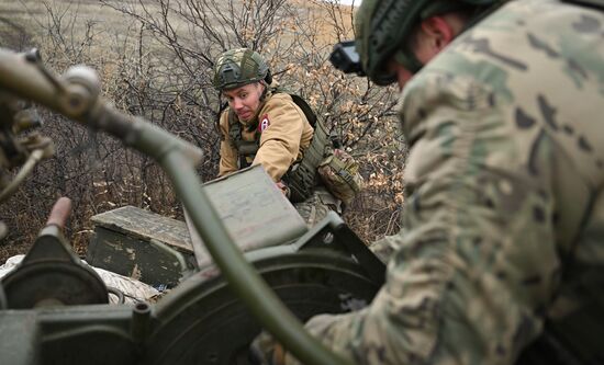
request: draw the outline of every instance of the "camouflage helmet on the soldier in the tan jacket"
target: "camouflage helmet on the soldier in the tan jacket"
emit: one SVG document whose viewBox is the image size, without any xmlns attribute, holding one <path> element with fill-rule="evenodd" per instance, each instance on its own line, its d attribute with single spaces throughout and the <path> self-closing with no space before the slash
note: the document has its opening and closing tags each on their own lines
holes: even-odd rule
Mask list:
<svg viewBox="0 0 604 365">
<path fill-rule="evenodd" d="M 262 80 L 271 83 L 270 69 L 262 56 L 249 48 L 227 50 L 214 65 L 213 84 L 220 91 Z"/>
</svg>

